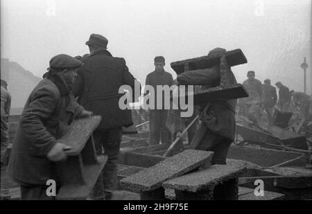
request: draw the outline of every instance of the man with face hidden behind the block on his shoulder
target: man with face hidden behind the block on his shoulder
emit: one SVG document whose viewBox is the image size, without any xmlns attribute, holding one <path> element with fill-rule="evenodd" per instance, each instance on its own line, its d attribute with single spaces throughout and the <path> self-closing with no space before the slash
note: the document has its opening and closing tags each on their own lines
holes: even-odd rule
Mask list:
<svg viewBox="0 0 312 214">
<path fill-rule="evenodd" d="M 223 48 L 215 48 L 209 55 L 225 53 Z M 225 55 L 220 58 L 220 84 L 235 84 L 236 79 L 227 65 Z M 218 82 L 216 82 L 217 86 Z M 207 86 L 208 87 L 208 86 Z M 226 164 L 227 151 L 235 136 L 236 100 L 217 100 L 200 106 L 200 128 L 193 137 L 190 149 L 213 151 L 212 164 Z"/>
</svg>

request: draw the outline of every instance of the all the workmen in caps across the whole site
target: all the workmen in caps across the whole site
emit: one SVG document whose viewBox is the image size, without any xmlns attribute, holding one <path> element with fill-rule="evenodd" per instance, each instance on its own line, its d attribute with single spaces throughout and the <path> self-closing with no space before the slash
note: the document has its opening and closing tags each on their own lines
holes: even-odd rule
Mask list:
<svg viewBox="0 0 312 214">
<path fill-rule="evenodd" d="M 55 173 L 55 163 L 64 161 L 71 147 L 58 142 L 74 118 L 101 115 L 103 120 L 93 133 L 97 154 L 107 154 L 108 160 L 103 173 L 98 177 L 89 199 L 112 199 L 117 184 L 117 160 L 122 127 L 133 125 L 130 109 L 119 107 L 119 88 L 128 85 L 135 91 L 136 79 L 128 70 L 125 60 L 113 57 L 107 51 L 108 40 L 102 35 L 92 34 L 85 43 L 89 54 L 83 57 L 56 55 L 49 62 L 44 79 L 31 92 L 21 114 L 8 164 L 8 174 L 21 186 L 21 199 L 55 199 L 46 195 L 47 179 L 54 179 L 58 188 L 60 182 Z M 220 54 L 220 64 L 215 69 L 220 71 L 220 82 L 235 84 L 236 79 L 227 64 L 226 50 L 215 48 L 208 55 Z M 165 59 L 154 59 L 155 71 L 146 77 L 146 85 L 179 84 L 170 73 L 164 71 Z M 225 81 L 223 78 L 227 77 Z M 257 123 L 257 114 L 264 105 L 268 116 L 272 118 L 272 108 L 276 102 L 286 110 L 291 100 L 291 93 L 280 82 L 279 101 L 275 87 L 270 80 L 265 84 L 254 78 L 254 71 L 248 72 L 248 80 L 243 86 L 249 93 L 245 98 L 248 117 Z M 4 92 L 3 92 L 4 91 Z M 1 82 L 1 155 L 3 116 L 8 116 L 8 109 L 2 109 L 4 96 L 8 96 Z M 157 90 L 155 89 L 155 92 Z M 133 100 L 137 100 L 133 93 Z M 140 94 L 138 95 L 140 96 Z M 155 98 L 157 96 L 155 95 Z M 164 97 L 163 97 L 164 98 Z M 295 102 L 310 98 L 302 93 L 293 93 Z M 6 101 L 8 102 L 8 101 Z M 311 102 L 311 101 L 310 101 Z M 304 107 L 308 104 L 304 102 Z M 164 102 L 163 102 L 164 104 Z M 155 100 L 155 106 L 157 99 Z M 180 112 L 167 109 L 150 109 L 149 144 L 160 142 L 170 145 L 196 116 L 200 124 L 193 123 L 188 130 L 191 149 L 214 151 L 212 164 L 226 164 L 227 150 L 234 141 L 236 100 L 217 100 L 196 107 L 189 118 L 180 118 Z"/>
</svg>

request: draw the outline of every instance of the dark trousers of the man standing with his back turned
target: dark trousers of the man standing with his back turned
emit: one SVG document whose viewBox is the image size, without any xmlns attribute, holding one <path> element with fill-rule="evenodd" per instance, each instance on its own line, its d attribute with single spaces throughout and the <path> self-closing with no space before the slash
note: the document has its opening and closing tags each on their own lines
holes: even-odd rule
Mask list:
<svg viewBox="0 0 312 214">
<path fill-rule="evenodd" d="M 122 127 L 95 131 L 93 133 L 96 153 L 98 155 L 103 154 L 104 150 L 104 154 L 108 156 L 108 160 L 104 166 L 103 174 L 96 181 L 91 195 L 92 199 L 111 199 L 112 192 L 116 190 L 118 182 L 118 156 L 122 134 Z"/>
</svg>

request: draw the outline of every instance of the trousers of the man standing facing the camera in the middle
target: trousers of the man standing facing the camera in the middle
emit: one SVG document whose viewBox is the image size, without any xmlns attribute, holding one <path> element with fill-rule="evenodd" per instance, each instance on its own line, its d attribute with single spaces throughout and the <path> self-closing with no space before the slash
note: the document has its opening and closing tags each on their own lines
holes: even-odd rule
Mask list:
<svg viewBox="0 0 312 214">
<path fill-rule="evenodd" d="M 168 110 L 150 110 L 150 134 L 149 145 L 159 144 L 162 137 L 162 144 L 171 144 L 171 133 L 166 127 Z"/>
</svg>

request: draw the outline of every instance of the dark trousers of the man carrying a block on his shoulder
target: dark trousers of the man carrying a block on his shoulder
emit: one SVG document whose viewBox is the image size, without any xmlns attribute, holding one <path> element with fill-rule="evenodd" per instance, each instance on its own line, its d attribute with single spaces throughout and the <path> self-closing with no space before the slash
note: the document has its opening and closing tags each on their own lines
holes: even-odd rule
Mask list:
<svg viewBox="0 0 312 214">
<path fill-rule="evenodd" d="M 226 139 L 223 136 L 214 134 L 214 132 L 207 130 L 202 140 L 195 149 L 214 152 L 211 164 L 225 165 L 227 164 L 226 163 L 227 152 L 229 150 L 229 146 L 231 145 L 231 143 L 232 141 L 230 139 Z"/>
</svg>

